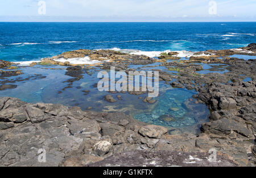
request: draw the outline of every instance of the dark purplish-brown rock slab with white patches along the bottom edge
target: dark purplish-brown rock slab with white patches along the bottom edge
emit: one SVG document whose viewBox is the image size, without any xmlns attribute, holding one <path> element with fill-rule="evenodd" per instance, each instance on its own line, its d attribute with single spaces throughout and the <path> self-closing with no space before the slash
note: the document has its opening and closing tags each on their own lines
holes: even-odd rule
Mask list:
<svg viewBox="0 0 256 178">
<path fill-rule="evenodd" d="M 89 164 L 88 166 L 154 167 L 158 165 L 164 167 L 234 167 L 238 165 L 224 154 L 219 153 L 217 162 L 212 162 L 208 156 L 209 154 L 206 152 L 187 153 L 177 151 L 133 151 L 113 155 L 105 160 L 102 160 L 101 162 Z"/>
</svg>

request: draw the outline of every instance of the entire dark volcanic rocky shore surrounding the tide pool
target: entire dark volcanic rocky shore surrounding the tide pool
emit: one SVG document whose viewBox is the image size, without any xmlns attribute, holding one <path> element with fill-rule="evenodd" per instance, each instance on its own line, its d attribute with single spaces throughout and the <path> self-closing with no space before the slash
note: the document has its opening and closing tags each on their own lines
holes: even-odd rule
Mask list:
<svg viewBox="0 0 256 178">
<path fill-rule="evenodd" d="M 155 59 L 108 50 L 80 49 L 43 59 L 42 64 L 70 66 L 66 74 L 73 79 L 67 81 L 67 87 L 73 87 L 72 82 L 80 80 L 82 73 L 92 66 L 101 69 L 114 66 L 117 71 L 128 72 L 134 70 L 128 68 L 131 64 L 160 63 L 160 67 L 179 73 L 159 70 L 160 80 L 176 88 L 195 89 L 198 94 L 193 98 L 197 103 L 207 105 L 211 111 L 209 122 L 201 126 L 201 133 L 197 135 L 175 133 L 162 126 L 139 122 L 124 113 L 29 104 L 18 98 L 3 97 L 0 98 L 0 165 L 255 166 L 256 61 L 229 57 L 256 56 L 255 50 L 256 44 L 250 44 L 236 50 L 199 52 L 189 60 L 179 61 L 175 56 L 177 53 L 173 52 Z M 102 60 L 102 63 L 72 66 L 68 62 L 55 61 L 85 56 L 91 60 Z M 108 61 L 104 61 L 106 59 Z M 228 72 L 199 74 L 197 72 L 203 67 L 197 63 L 225 65 Z M 2 68 L 10 65 L 5 61 L 0 63 Z M 14 73 L 19 74 L 17 72 Z M 1 72 L 2 77 L 4 74 L 6 71 Z M 251 80 L 243 81 L 245 77 Z M 176 81 L 173 82 L 174 79 Z M 4 85 L 2 82 L 0 88 Z M 116 101 L 111 93 L 105 100 Z M 144 98 L 144 102 L 149 101 L 149 98 Z M 38 162 L 38 150 L 41 148 L 46 151 L 46 163 Z M 212 148 L 217 150 L 218 162 L 209 161 Z"/>
</svg>

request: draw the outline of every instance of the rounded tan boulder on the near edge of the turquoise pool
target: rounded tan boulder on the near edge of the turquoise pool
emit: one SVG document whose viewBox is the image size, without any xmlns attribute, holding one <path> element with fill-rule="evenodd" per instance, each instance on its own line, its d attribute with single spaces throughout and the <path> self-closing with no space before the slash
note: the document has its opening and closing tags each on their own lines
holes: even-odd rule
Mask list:
<svg viewBox="0 0 256 178">
<path fill-rule="evenodd" d="M 148 125 L 139 129 L 139 133 L 148 138 L 160 138 L 163 134 L 167 133 L 167 129 L 162 126 Z"/>
</svg>

